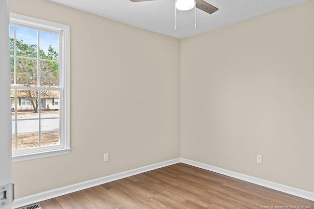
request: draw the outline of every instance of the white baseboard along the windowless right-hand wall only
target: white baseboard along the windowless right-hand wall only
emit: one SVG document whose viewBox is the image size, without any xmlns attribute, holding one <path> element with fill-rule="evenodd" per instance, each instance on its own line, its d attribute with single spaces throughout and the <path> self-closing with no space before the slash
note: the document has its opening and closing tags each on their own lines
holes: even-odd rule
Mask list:
<svg viewBox="0 0 314 209">
<path fill-rule="evenodd" d="M 252 176 L 247 176 L 244 174 L 236 173 L 236 172 L 229 171 L 229 170 L 226 170 L 223 168 L 218 168 L 218 167 L 215 167 L 212 165 L 208 165 L 205 163 L 201 163 L 201 162 L 197 162 L 197 161 L 193 161 L 193 160 L 189 160 L 189 159 L 185 159 L 185 158 L 181 158 L 181 162 L 188 164 L 188 165 L 198 167 L 198 168 L 203 168 L 203 169 L 208 170 L 208 171 L 212 171 L 215 173 L 219 173 L 219 174 L 223 174 L 223 175 L 226 175 L 229 177 L 233 177 L 235 179 L 240 179 L 240 180 L 243 180 L 246 182 L 255 183 L 255 184 L 258 184 L 261 186 L 265 186 L 267 188 L 275 189 L 278 191 L 282 191 L 282 192 L 285 192 L 288 194 L 292 194 L 292 195 L 295 195 L 298 197 L 302 197 L 302 198 L 314 201 L 314 193 L 313 192 L 294 188 L 291 186 L 286 186 L 286 185 L 283 185 L 280 183 L 269 182 L 266 180 L 262 180 L 262 179 L 255 178 Z"/>
</svg>

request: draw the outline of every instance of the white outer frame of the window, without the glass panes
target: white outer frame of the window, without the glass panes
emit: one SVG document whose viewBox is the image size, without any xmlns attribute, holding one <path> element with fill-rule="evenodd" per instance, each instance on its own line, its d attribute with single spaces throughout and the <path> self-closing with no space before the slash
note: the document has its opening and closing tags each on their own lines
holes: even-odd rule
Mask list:
<svg viewBox="0 0 314 209">
<path fill-rule="evenodd" d="M 12 151 L 12 161 L 24 161 L 70 153 L 70 26 L 10 13 L 10 25 L 59 33 L 60 145 Z M 11 87 L 13 90 L 40 87 Z M 11 122 L 10 122 L 11 123 Z"/>
</svg>

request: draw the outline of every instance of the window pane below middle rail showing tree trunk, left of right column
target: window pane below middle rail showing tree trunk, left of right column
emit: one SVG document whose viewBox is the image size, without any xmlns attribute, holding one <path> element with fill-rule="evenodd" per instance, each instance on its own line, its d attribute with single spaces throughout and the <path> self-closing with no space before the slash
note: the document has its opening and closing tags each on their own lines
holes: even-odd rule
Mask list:
<svg viewBox="0 0 314 209">
<path fill-rule="evenodd" d="M 38 91 L 17 90 L 17 114 L 19 119 L 38 118 Z"/>
</svg>

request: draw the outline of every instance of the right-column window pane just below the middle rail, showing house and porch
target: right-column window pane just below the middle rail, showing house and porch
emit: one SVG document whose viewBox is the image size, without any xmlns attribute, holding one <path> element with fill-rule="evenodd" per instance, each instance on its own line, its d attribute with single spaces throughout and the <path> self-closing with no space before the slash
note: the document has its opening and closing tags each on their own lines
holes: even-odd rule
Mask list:
<svg viewBox="0 0 314 209">
<path fill-rule="evenodd" d="M 41 118 L 58 118 L 60 117 L 60 102 L 59 101 L 60 91 L 42 91 L 41 100 L 42 100 L 42 109 L 41 109 Z"/>
</svg>

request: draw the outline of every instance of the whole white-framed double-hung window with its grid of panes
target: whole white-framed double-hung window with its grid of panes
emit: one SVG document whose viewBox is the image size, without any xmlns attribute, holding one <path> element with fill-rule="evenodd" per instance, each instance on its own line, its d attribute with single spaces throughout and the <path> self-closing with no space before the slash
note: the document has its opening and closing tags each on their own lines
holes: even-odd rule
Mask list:
<svg viewBox="0 0 314 209">
<path fill-rule="evenodd" d="M 10 13 L 13 161 L 70 152 L 69 39 L 69 26 Z"/>
</svg>

